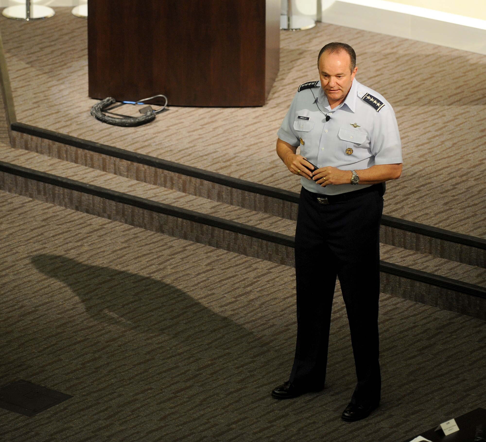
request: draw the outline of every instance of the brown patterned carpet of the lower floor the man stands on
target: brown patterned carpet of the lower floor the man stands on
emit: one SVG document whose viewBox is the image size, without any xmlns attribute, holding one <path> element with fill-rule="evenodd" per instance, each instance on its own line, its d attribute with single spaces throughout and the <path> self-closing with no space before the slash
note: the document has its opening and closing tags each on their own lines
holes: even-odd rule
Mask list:
<svg viewBox="0 0 486 442">
<path fill-rule="evenodd" d="M 5 192 L 0 235 L 2 385 L 73 395 L 30 418 L 0 409 L 2 441 L 399 442 L 486 407 L 479 319 L 382 293 L 382 405 L 345 423 L 355 375 L 339 289 L 326 389 L 279 402 L 291 268 Z"/>
</svg>

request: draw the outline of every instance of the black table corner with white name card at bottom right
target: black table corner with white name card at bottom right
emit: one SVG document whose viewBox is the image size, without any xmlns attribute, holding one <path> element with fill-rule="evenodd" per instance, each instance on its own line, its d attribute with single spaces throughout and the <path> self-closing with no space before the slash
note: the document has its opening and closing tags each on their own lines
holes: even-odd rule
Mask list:
<svg viewBox="0 0 486 442">
<path fill-rule="evenodd" d="M 447 418 L 444 418 L 443 422 L 445 421 L 447 421 Z M 455 433 L 445 436 L 444 433 L 436 432 L 434 427 L 420 433 L 420 435 L 432 442 L 473 442 L 477 440 L 475 437 L 478 435 L 478 425 L 486 423 L 486 409 L 476 408 L 469 411 L 469 413 L 456 417 L 455 421 L 459 427 L 459 431 Z M 440 424 L 440 422 L 437 424 Z M 409 438 L 404 442 L 409 442 L 413 439 Z M 481 441 L 481 439 L 479 440 Z"/>
</svg>

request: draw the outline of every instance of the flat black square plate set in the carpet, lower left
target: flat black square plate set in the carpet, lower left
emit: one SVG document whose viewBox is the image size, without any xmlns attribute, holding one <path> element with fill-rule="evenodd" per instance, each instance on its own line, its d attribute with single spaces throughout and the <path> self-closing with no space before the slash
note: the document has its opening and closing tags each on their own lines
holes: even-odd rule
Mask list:
<svg viewBox="0 0 486 442">
<path fill-rule="evenodd" d="M 0 388 L 0 408 L 24 416 L 35 416 L 71 397 L 69 394 L 20 380 Z"/>
</svg>

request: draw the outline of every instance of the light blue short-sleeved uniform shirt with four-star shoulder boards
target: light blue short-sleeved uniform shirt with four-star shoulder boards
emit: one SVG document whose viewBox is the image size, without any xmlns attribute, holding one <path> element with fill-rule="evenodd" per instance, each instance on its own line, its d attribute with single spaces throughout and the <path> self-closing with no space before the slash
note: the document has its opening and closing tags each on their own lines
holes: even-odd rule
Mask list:
<svg viewBox="0 0 486 442">
<path fill-rule="evenodd" d="M 300 146 L 300 154 L 318 168 L 361 170 L 402 162 L 395 112 L 382 95 L 354 79 L 346 100 L 331 109 L 320 82 L 312 84 L 295 94 L 277 133 L 281 140 Z M 329 115 L 329 121 L 321 111 Z M 307 190 L 325 195 L 369 186 L 321 187 L 306 178 L 301 178 L 301 183 Z"/>
</svg>

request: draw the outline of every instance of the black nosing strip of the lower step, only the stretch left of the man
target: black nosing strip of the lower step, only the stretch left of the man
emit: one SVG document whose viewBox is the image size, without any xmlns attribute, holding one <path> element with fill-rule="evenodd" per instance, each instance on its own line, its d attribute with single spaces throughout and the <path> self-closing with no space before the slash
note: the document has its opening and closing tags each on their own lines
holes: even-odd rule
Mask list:
<svg viewBox="0 0 486 442">
<path fill-rule="evenodd" d="M 294 247 L 294 238 L 280 233 L 270 232 L 268 230 L 260 229 L 258 227 L 247 226 L 246 224 L 224 220 L 212 215 L 206 215 L 193 210 L 175 207 L 169 204 L 151 201 L 134 195 L 129 195 L 116 190 L 106 189 L 91 184 L 83 183 L 81 181 L 71 180 L 51 173 L 40 172 L 38 170 L 28 169 L 22 166 L 17 166 L 10 163 L 0 161 L 0 171 L 18 175 L 23 178 L 40 181 L 42 183 L 50 184 L 57 187 L 64 187 L 70 190 L 75 190 L 89 195 L 94 195 L 107 200 L 115 201 L 121 204 L 132 205 L 141 209 L 150 210 L 152 212 L 162 213 L 187 221 L 198 222 L 208 226 L 217 227 L 223 230 L 240 233 L 249 237 L 263 239 L 265 241 L 281 244 L 287 247 Z"/>
</svg>

